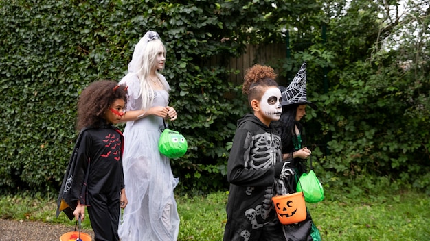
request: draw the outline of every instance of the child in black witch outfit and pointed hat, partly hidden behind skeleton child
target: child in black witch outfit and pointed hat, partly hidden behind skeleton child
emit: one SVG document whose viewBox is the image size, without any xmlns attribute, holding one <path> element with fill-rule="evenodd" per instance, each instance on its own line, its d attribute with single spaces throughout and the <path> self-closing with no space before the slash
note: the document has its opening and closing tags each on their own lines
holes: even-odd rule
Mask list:
<svg viewBox="0 0 430 241">
<path fill-rule="evenodd" d="M 314 110 L 317 106 L 307 101 L 306 98 L 306 62 L 302 64 L 287 88 L 280 86 L 282 92 L 282 114 L 279 121 L 273 122 L 273 127 L 278 130 L 282 142 L 282 159 L 291 160 L 295 178 L 288 179 L 288 191 L 296 192 L 297 180 L 306 172 L 306 160 L 311 151 L 304 147 L 304 131 L 300 120 L 306 115 L 306 105 Z M 288 241 L 319 241 L 321 236 L 315 227 L 310 213 L 307 212 L 306 220 L 282 226 Z"/>
</svg>

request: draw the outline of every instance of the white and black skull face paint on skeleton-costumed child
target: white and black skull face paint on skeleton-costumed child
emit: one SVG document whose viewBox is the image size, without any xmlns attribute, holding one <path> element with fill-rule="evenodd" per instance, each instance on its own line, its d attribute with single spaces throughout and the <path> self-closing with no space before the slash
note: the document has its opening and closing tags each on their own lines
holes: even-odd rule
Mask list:
<svg viewBox="0 0 430 241">
<path fill-rule="evenodd" d="M 264 116 L 272 121 L 278 121 L 282 112 L 281 90 L 278 87 L 267 89 L 261 97 L 260 107 Z"/>
</svg>

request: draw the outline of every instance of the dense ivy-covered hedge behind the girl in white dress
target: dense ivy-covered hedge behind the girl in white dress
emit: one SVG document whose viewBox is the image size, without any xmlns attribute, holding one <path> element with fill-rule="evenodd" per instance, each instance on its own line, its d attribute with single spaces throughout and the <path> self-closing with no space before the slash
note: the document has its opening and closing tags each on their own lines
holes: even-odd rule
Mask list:
<svg viewBox="0 0 430 241">
<path fill-rule="evenodd" d="M 229 70 L 205 65 L 206 57 L 237 55 L 243 47 L 220 42 L 223 23 L 207 14 L 216 5 L 203 9 L 157 1 L 49 0 L 0 4 L 2 116 L 7 116 L 1 124 L 2 192 L 58 188 L 77 136 L 80 91 L 98 79 L 119 81 L 134 45 L 150 29 L 159 32 L 168 48 L 164 74 L 179 113 L 175 127 L 190 143 L 187 155 L 174 160 L 175 174 L 184 189 L 223 183 L 219 173 L 226 143 L 246 105 L 238 88 L 227 81 Z M 229 36 L 233 29 L 223 26 L 223 33 Z"/>
</svg>

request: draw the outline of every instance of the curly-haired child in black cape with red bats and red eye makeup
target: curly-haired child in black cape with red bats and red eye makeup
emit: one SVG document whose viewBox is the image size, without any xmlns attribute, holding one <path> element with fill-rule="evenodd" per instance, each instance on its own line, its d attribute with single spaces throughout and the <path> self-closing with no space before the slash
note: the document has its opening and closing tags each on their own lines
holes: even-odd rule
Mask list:
<svg viewBox="0 0 430 241">
<path fill-rule="evenodd" d="M 126 207 L 122 170 L 122 132 L 113 124 L 124 116 L 126 86 L 95 81 L 78 100 L 80 130 L 58 196 L 61 211 L 72 220 L 89 214 L 95 240 L 119 240 L 120 207 Z"/>
</svg>

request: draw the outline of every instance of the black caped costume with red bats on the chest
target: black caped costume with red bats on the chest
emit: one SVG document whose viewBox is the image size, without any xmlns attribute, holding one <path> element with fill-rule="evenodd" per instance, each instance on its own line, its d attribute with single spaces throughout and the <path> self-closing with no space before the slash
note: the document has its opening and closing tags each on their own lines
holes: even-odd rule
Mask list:
<svg viewBox="0 0 430 241">
<path fill-rule="evenodd" d="M 123 139 L 121 131 L 104 120 L 98 128 L 82 129 L 61 185 L 57 217 L 63 211 L 73 220 L 80 200 L 87 206 L 95 240 L 119 240 Z"/>
</svg>

